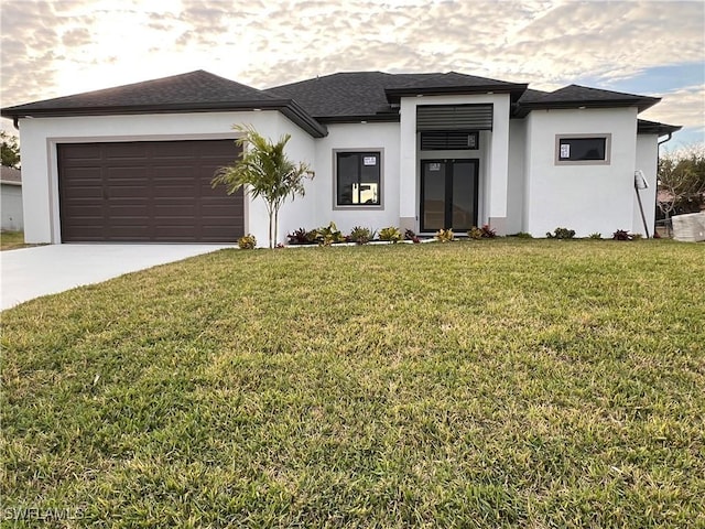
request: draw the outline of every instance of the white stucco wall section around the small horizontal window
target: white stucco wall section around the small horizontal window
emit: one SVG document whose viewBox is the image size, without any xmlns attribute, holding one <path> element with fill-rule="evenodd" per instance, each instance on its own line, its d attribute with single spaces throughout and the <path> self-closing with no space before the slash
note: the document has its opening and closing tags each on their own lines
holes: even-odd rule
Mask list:
<svg viewBox="0 0 705 529">
<path fill-rule="evenodd" d="M 556 227 L 578 237 L 633 225 L 637 109 L 533 110 L 527 118 L 524 231 Z M 609 164 L 556 165 L 556 134 L 611 134 Z"/>
</svg>

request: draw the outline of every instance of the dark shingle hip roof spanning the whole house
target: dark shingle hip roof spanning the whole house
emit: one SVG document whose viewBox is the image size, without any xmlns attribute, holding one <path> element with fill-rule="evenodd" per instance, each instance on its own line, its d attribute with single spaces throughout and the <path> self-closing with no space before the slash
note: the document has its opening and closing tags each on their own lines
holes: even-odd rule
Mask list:
<svg viewBox="0 0 705 529">
<path fill-rule="evenodd" d="M 276 86 L 267 90 L 197 71 L 155 80 L 89 91 L 3 108 L 2 116 L 107 116 L 160 112 L 279 110 L 313 137 L 327 133 L 326 122 L 398 121 L 403 96 L 443 94 L 509 94 L 512 117 L 540 108 L 609 108 L 655 105 L 655 97 L 570 85 L 555 91 L 525 84 L 448 72 L 387 74 L 349 72 Z M 670 127 L 670 126 L 666 126 Z"/>
</svg>

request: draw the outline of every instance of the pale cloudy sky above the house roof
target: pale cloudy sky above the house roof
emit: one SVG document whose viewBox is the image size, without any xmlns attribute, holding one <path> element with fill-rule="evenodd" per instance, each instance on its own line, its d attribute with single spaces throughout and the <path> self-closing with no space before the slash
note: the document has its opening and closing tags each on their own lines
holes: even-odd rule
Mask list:
<svg viewBox="0 0 705 529">
<path fill-rule="evenodd" d="M 699 0 L 1 0 L 0 18 L 3 107 L 195 69 L 256 88 L 456 71 L 659 96 L 640 117 L 705 142 Z"/>
</svg>

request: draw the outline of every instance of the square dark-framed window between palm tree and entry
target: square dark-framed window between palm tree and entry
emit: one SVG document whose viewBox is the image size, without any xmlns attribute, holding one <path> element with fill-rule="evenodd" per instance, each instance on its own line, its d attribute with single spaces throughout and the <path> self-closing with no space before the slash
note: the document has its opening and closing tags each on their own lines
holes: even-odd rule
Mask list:
<svg viewBox="0 0 705 529">
<path fill-rule="evenodd" d="M 336 205 L 380 206 L 381 202 L 381 151 L 337 151 Z"/>
</svg>

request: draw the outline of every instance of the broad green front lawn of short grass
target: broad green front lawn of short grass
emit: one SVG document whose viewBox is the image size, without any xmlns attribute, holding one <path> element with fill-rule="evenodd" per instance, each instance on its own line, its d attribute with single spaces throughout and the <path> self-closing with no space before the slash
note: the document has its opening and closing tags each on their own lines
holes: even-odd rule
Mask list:
<svg viewBox="0 0 705 529">
<path fill-rule="evenodd" d="M 25 303 L 2 514 L 705 527 L 704 278 L 703 245 L 505 239 L 224 250 Z"/>
</svg>

